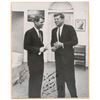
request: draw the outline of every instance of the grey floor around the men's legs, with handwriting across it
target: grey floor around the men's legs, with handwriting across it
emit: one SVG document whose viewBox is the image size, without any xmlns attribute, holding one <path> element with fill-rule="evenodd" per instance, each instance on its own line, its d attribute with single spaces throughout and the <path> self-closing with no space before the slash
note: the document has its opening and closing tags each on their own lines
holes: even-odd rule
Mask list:
<svg viewBox="0 0 100 100">
<path fill-rule="evenodd" d="M 24 63 L 22 67 L 28 69 L 27 64 Z M 23 69 L 21 68 L 21 70 Z M 17 70 L 18 73 L 19 70 Z M 15 71 L 13 71 L 13 76 Z M 54 63 L 45 63 L 44 65 L 44 76 L 42 83 L 42 98 L 57 98 L 56 90 L 56 77 L 55 77 L 55 64 Z M 18 75 L 16 75 L 18 76 Z M 12 85 L 12 98 L 28 98 L 28 71 L 24 71 L 24 78 L 22 81 L 14 81 Z M 89 97 L 89 85 L 88 85 L 88 68 L 84 69 L 81 67 L 75 67 L 75 78 L 76 78 L 76 88 L 79 98 L 88 98 Z M 16 78 L 17 79 L 17 78 Z M 70 98 L 67 85 L 65 84 L 66 98 Z"/>
</svg>

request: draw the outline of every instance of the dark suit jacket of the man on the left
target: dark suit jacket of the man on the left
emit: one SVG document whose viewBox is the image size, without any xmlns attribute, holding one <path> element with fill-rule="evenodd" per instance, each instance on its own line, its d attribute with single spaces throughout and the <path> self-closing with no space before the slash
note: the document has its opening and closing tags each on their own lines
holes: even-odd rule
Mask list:
<svg viewBox="0 0 100 100">
<path fill-rule="evenodd" d="M 42 40 L 43 33 L 41 31 Z M 24 49 L 28 51 L 28 66 L 32 70 L 40 70 L 43 68 L 43 54 L 38 55 L 40 47 L 43 46 L 43 42 L 38 37 L 38 34 L 33 27 L 28 30 L 24 38 Z"/>
</svg>

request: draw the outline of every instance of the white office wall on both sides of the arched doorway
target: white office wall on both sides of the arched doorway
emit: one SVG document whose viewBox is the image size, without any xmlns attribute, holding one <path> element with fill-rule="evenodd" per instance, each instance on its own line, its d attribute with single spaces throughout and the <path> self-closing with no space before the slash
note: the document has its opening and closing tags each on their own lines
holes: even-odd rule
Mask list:
<svg viewBox="0 0 100 100">
<path fill-rule="evenodd" d="M 27 10 L 45 10 L 46 20 L 44 23 L 43 31 L 44 31 L 44 43 L 47 42 L 47 29 L 48 29 L 48 8 L 52 2 L 42 2 L 42 3 L 13 3 L 12 10 L 13 11 L 23 11 L 24 12 L 24 33 L 26 30 L 33 27 L 33 23 L 27 21 Z M 88 26 L 88 2 L 71 2 L 71 5 L 74 9 L 74 17 L 73 17 L 73 26 L 75 27 L 75 20 L 76 19 L 85 19 L 86 20 L 86 30 L 84 32 L 76 31 L 79 45 L 86 45 L 86 66 L 88 66 L 88 34 L 89 34 L 89 26 Z M 23 35 L 24 37 L 24 35 Z M 45 55 L 48 56 L 48 55 Z M 27 61 L 26 51 L 24 51 L 24 61 Z M 46 59 L 45 59 L 46 61 Z"/>
</svg>

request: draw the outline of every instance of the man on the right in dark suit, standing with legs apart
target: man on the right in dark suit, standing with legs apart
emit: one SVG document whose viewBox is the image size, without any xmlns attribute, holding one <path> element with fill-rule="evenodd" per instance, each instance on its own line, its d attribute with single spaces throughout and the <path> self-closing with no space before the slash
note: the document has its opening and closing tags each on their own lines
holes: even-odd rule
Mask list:
<svg viewBox="0 0 100 100">
<path fill-rule="evenodd" d="M 64 14 L 54 14 L 54 21 L 57 27 L 52 30 L 51 47 L 55 52 L 58 97 L 65 97 L 65 82 L 71 97 L 77 97 L 73 54 L 77 35 L 72 26 L 64 24 Z"/>
</svg>

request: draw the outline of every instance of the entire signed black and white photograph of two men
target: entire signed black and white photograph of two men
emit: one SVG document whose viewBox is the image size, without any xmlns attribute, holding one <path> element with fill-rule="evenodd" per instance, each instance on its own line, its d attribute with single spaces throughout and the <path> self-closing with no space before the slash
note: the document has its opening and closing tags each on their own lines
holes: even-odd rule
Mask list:
<svg viewBox="0 0 100 100">
<path fill-rule="evenodd" d="M 11 2 L 11 98 L 89 98 L 89 2 Z"/>
</svg>

